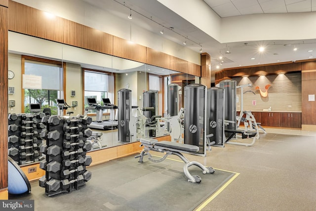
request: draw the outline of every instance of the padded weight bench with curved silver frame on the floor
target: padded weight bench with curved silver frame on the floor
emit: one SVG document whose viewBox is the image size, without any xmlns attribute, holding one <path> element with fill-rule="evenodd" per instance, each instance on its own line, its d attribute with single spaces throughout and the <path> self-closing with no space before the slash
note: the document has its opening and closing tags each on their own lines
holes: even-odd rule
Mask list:
<svg viewBox="0 0 316 211">
<path fill-rule="evenodd" d="M 192 165 L 195 165 L 202 169 L 202 173 L 214 173 L 214 169 L 211 167 L 204 167 L 202 164 L 196 162 L 196 161 L 188 161 L 182 153 L 196 153 L 199 150 L 198 146 L 190 145 L 190 144 L 181 144 L 176 142 L 170 142 L 170 141 L 159 141 L 157 139 L 140 139 L 141 145 L 144 146 L 144 149 L 140 153 L 140 155 L 135 156 L 135 158 L 139 158 L 140 163 L 143 163 L 143 157 L 144 155 L 149 156 L 149 160 L 154 163 L 160 163 L 164 161 L 168 155 L 176 155 L 185 163 L 183 167 L 184 174 L 188 177 L 189 182 L 201 182 L 201 177 L 199 175 L 191 175 L 188 168 Z M 162 152 L 164 156 L 158 160 L 153 159 L 152 155 L 149 153 L 149 151 L 156 151 L 156 152 Z"/>
</svg>

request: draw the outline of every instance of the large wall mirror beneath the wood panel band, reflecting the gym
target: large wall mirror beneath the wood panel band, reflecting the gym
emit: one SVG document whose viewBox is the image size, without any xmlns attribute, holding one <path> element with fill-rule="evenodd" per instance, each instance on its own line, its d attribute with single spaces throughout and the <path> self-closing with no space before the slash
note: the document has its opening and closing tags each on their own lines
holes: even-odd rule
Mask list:
<svg viewBox="0 0 316 211">
<path fill-rule="evenodd" d="M 14 87 L 15 90 L 8 97 L 15 101 L 15 106 L 9 108 L 9 113 L 29 112 L 25 110 L 26 104 L 36 103 L 32 97 L 28 98 L 28 102 L 25 100 L 25 90 L 21 83 L 23 74 L 37 74 L 35 70 L 32 71 L 32 65 L 26 71 L 24 63 L 27 59 L 24 55 L 59 62 L 65 73 L 60 73 L 63 77 L 58 81 L 61 87 L 57 96 L 50 95 L 50 98 L 64 98 L 71 106 L 68 111 L 74 112 L 70 115 L 87 114 L 93 121 L 97 121 L 99 111 L 87 109 L 92 106 L 88 104 L 88 98 L 94 98 L 96 104 L 103 107 L 98 120 L 108 121 L 113 126 L 107 129 L 92 128 L 93 131 L 102 132 L 100 143 L 96 143 L 93 150 L 134 142 L 141 137 L 168 135 L 170 130 L 163 120 L 170 116 L 167 109 L 168 85 L 173 84 L 177 88 L 176 103 L 180 110 L 183 107 L 184 86 L 199 83 L 198 77 L 188 74 L 14 32 L 9 32 L 8 46 L 8 68 L 15 75 L 8 82 L 9 87 Z M 170 99 L 174 100 L 174 97 L 169 98 L 169 101 Z M 55 99 L 40 103 L 42 107 L 47 104 L 56 106 Z M 117 107 L 107 107 L 107 103 Z M 127 109 L 128 118 L 126 112 L 119 114 Z M 129 134 L 119 130 L 119 121 L 122 119 L 130 122 Z"/>
</svg>

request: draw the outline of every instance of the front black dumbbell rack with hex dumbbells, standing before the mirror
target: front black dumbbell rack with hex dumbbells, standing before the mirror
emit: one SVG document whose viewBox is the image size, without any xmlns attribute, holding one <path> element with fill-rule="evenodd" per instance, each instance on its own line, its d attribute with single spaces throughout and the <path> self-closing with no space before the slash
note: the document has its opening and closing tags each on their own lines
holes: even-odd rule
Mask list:
<svg viewBox="0 0 316 211">
<path fill-rule="evenodd" d="M 40 162 L 45 175 L 39 180 L 47 196 L 78 190 L 91 178 L 91 172 L 86 170 L 92 162 L 91 156 L 86 155 L 92 148 L 86 141 L 92 134 L 87 128 L 91 122 L 87 116 L 51 116 L 48 119 L 46 145 L 40 148 L 46 155 Z"/>
</svg>

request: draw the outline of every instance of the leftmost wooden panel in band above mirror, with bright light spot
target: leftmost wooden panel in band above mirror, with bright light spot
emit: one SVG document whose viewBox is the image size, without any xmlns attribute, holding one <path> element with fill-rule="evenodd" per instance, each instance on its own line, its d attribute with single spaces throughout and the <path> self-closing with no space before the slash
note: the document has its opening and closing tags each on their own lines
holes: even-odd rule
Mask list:
<svg viewBox="0 0 316 211">
<path fill-rule="evenodd" d="M 38 9 L 9 1 L 9 30 L 55 42 L 63 42 L 63 18 L 48 17 Z"/>
</svg>

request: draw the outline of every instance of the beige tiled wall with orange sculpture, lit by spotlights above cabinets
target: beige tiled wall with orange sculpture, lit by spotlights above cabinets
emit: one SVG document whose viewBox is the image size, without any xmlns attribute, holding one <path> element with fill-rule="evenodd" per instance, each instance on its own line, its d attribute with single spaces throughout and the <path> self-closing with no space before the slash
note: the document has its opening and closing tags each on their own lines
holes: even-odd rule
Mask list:
<svg viewBox="0 0 316 211">
<path fill-rule="evenodd" d="M 301 73 L 289 73 L 281 75 L 269 76 L 251 76 L 244 78 L 232 78 L 237 81 L 237 85 L 252 84 L 252 87 L 243 87 L 243 110 L 244 111 L 262 111 L 271 107 L 272 111 L 302 111 L 302 75 Z M 259 86 L 265 91 L 265 86 L 270 84 L 268 96 L 261 97 L 259 90 L 255 87 Z M 240 110 L 240 92 L 237 88 L 237 111 Z M 254 105 L 255 104 L 255 105 Z"/>
</svg>

